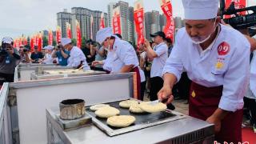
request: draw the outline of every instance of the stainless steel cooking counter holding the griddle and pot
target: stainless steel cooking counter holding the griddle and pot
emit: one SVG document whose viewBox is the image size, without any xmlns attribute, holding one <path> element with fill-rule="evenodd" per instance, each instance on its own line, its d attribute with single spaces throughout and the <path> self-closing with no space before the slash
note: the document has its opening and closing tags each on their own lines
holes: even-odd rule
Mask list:
<svg viewBox="0 0 256 144">
<path fill-rule="evenodd" d="M 128 113 L 121 111 L 121 114 Z M 106 119 L 97 118 L 86 109 L 93 124 L 68 131 L 56 122 L 56 114 L 59 114 L 58 107 L 46 110 L 48 143 L 214 143 L 213 125 L 170 110 L 160 114 L 131 114 L 136 117 L 134 125 L 114 128 L 107 126 Z"/>
</svg>

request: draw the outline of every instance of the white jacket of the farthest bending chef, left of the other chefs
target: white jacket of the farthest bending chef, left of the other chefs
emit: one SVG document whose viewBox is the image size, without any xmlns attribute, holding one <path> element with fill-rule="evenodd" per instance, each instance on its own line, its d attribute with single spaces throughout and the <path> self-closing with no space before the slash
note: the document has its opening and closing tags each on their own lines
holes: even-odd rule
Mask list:
<svg viewBox="0 0 256 144">
<path fill-rule="evenodd" d="M 73 46 L 70 50 L 70 57 L 67 59 L 67 66 L 77 68 L 80 63 L 86 67 L 86 70 L 90 70 L 90 66 L 88 66 L 86 62 L 86 56 L 82 53 L 82 50 L 79 49 L 77 46 Z"/>
</svg>

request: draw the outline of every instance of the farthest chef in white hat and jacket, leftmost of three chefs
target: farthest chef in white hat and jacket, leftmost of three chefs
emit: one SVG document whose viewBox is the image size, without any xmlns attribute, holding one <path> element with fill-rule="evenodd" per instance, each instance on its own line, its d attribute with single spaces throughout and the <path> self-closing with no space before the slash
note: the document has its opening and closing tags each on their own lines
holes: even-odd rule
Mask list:
<svg viewBox="0 0 256 144">
<path fill-rule="evenodd" d="M 80 68 L 83 66 L 83 70 L 90 70 L 86 62 L 86 56 L 82 53 L 82 50 L 77 46 L 73 46 L 70 38 L 62 38 L 62 46 L 64 49 L 70 51 L 70 57 L 67 60 L 67 66 Z"/>
</svg>

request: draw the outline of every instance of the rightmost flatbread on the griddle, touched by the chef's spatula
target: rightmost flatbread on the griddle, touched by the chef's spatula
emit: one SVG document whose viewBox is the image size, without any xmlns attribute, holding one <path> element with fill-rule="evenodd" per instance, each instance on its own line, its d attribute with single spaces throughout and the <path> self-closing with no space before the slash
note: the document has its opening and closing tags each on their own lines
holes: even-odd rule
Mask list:
<svg viewBox="0 0 256 144">
<path fill-rule="evenodd" d="M 166 108 L 167 108 L 167 106 L 165 104 L 163 104 L 162 102 L 158 102 L 155 104 L 142 103 L 139 105 L 139 107 L 148 113 L 157 113 L 157 112 L 166 110 Z"/>
</svg>

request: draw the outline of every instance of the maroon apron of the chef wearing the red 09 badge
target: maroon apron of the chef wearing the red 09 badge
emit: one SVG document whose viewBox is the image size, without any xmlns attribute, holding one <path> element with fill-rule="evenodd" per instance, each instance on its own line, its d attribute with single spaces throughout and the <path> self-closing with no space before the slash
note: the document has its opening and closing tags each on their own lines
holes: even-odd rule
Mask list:
<svg viewBox="0 0 256 144">
<path fill-rule="evenodd" d="M 190 86 L 189 115 L 206 121 L 214 111 L 222 97 L 223 86 L 205 87 L 195 82 Z M 222 120 L 221 130 L 215 134 L 218 142 L 242 142 L 242 110 L 230 112 Z"/>
</svg>

